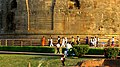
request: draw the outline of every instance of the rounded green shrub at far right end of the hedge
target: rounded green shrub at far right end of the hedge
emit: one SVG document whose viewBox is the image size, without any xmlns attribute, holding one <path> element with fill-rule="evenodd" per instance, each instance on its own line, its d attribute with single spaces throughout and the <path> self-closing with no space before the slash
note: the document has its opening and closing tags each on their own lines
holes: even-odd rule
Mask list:
<svg viewBox="0 0 120 67">
<path fill-rule="evenodd" d="M 106 58 L 116 58 L 119 54 L 118 48 L 105 48 L 104 49 L 104 56 Z"/>
</svg>

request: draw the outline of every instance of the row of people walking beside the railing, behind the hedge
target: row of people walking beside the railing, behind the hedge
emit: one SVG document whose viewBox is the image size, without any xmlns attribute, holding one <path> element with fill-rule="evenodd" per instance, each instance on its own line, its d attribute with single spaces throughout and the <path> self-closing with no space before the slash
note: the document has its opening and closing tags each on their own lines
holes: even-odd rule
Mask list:
<svg viewBox="0 0 120 67">
<path fill-rule="evenodd" d="M 71 39 L 71 40 L 70 40 Z M 60 36 L 58 36 L 57 37 L 57 43 L 56 44 L 60 44 L 60 47 L 66 47 L 66 45 L 69 43 L 69 44 L 71 44 L 71 45 L 75 45 L 75 44 L 77 44 L 77 45 L 79 45 L 79 44 L 81 44 L 81 39 L 80 39 L 80 37 L 79 36 L 77 36 L 76 38 L 74 38 L 73 36 L 71 37 L 69 39 L 69 41 L 68 41 L 68 38 L 67 37 L 62 37 L 62 39 L 61 39 L 61 37 Z M 114 45 L 114 37 L 112 37 L 112 45 Z M 44 46 L 45 45 L 45 43 L 46 43 L 46 39 L 45 39 L 45 37 L 43 36 L 42 37 L 42 46 Z M 55 45 L 56 45 L 55 44 Z M 85 44 L 88 44 L 88 45 L 90 45 L 90 46 L 98 46 L 98 44 L 99 44 L 99 38 L 98 37 L 91 37 L 90 39 L 88 38 L 88 36 L 86 36 L 86 38 L 85 38 Z M 48 45 L 51 47 L 51 46 L 54 46 L 54 44 L 53 44 L 53 38 L 50 36 L 50 38 L 48 38 Z M 56 45 L 57 46 L 57 45 Z"/>
</svg>

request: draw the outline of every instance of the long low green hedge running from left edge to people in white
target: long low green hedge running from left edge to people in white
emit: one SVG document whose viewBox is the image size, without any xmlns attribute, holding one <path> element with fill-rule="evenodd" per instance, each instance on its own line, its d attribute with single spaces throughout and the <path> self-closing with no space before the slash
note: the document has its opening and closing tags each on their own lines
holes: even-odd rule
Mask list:
<svg viewBox="0 0 120 67">
<path fill-rule="evenodd" d="M 16 52 L 40 52 L 54 53 L 55 48 L 49 46 L 0 46 L 0 51 L 16 51 Z"/>
</svg>

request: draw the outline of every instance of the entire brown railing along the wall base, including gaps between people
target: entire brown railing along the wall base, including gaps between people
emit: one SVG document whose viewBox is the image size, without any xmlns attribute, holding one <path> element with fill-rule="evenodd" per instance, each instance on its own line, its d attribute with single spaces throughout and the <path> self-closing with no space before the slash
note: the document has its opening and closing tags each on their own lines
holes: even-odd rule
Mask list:
<svg viewBox="0 0 120 67">
<path fill-rule="evenodd" d="M 99 44 L 111 44 L 111 41 L 108 42 L 109 39 L 102 41 L 103 39 L 100 38 Z M 68 38 L 68 41 L 71 41 L 71 39 Z M 115 44 L 119 45 L 118 42 L 119 41 L 115 41 Z M 54 45 L 57 43 L 57 38 L 53 38 L 53 43 Z M 85 38 L 81 38 L 81 44 L 85 44 Z M 47 38 L 46 45 L 48 45 Z M 41 46 L 41 39 L 0 39 L 0 46 Z"/>
</svg>

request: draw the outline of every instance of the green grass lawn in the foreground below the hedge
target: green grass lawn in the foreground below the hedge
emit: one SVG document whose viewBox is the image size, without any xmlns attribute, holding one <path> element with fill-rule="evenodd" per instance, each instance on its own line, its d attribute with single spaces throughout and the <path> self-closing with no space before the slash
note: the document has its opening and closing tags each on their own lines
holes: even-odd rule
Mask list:
<svg viewBox="0 0 120 67">
<path fill-rule="evenodd" d="M 66 67 L 88 58 L 66 58 Z M 0 67 L 62 67 L 59 56 L 0 54 Z"/>
</svg>

